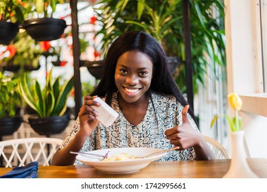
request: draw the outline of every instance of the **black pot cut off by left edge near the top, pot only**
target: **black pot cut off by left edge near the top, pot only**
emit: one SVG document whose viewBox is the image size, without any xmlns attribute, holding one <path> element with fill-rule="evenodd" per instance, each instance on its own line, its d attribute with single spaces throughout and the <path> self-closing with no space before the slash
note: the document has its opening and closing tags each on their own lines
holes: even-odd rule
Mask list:
<svg viewBox="0 0 267 192">
<path fill-rule="evenodd" d="M 18 32 L 18 23 L 0 21 L 0 44 L 9 45 Z"/>
</svg>

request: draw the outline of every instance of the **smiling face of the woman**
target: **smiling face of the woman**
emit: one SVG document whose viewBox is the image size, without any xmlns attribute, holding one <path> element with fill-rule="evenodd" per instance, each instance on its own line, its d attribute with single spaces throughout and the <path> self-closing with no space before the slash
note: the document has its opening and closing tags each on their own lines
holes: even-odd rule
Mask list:
<svg viewBox="0 0 267 192">
<path fill-rule="evenodd" d="M 152 61 L 140 51 L 127 51 L 119 57 L 115 69 L 115 84 L 126 102 L 134 103 L 146 98 L 152 69 Z"/>
</svg>

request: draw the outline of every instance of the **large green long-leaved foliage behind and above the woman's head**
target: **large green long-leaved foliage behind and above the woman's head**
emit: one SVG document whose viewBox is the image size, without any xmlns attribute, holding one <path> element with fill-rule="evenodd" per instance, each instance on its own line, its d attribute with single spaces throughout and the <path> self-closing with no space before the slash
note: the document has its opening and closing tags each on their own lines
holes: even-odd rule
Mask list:
<svg viewBox="0 0 267 192">
<path fill-rule="evenodd" d="M 102 48 L 105 53 L 122 33 L 143 30 L 159 40 L 168 56 L 177 56 L 185 63 L 183 1 L 102 0 L 100 5 L 95 12 L 102 21 L 98 34 L 104 35 Z M 214 15 L 214 10 L 218 10 L 217 15 Z M 197 93 L 198 85 L 204 84 L 210 61 L 213 66 L 225 66 L 223 1 L 190 1 L 190 19 L 194 93 Z M 184 65 L 176 77 L 176 83 L 185 93 Z"/>
</svg>

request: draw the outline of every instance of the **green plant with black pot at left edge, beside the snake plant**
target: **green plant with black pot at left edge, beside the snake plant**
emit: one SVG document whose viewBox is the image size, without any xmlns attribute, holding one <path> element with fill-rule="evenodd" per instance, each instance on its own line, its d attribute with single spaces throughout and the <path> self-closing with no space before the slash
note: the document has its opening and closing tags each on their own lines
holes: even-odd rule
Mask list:
<svg viewBox="0 0 267 192">
<path fill-rule="evenodd" d="M 18 78 L 5 76 L 0 72 L 0 140 L 2 136 L 16 132 L 22 122 L 18 112 L 22 103 L 18 81 Z"/>
</svg>

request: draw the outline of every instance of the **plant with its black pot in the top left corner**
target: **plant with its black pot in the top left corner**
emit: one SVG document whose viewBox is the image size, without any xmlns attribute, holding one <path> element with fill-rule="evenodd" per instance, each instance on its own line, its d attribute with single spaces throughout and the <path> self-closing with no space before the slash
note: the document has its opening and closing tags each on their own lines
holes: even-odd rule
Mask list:
<svg viewBox="0 0 267 192">
<path fill-rule="evenodd" d="M 0 44 L 10 44 L 19 32 L 19 23 L 24 21 L 30 10 L 30 4 L 23 0 L 0 1 Z"/>
</svg>

